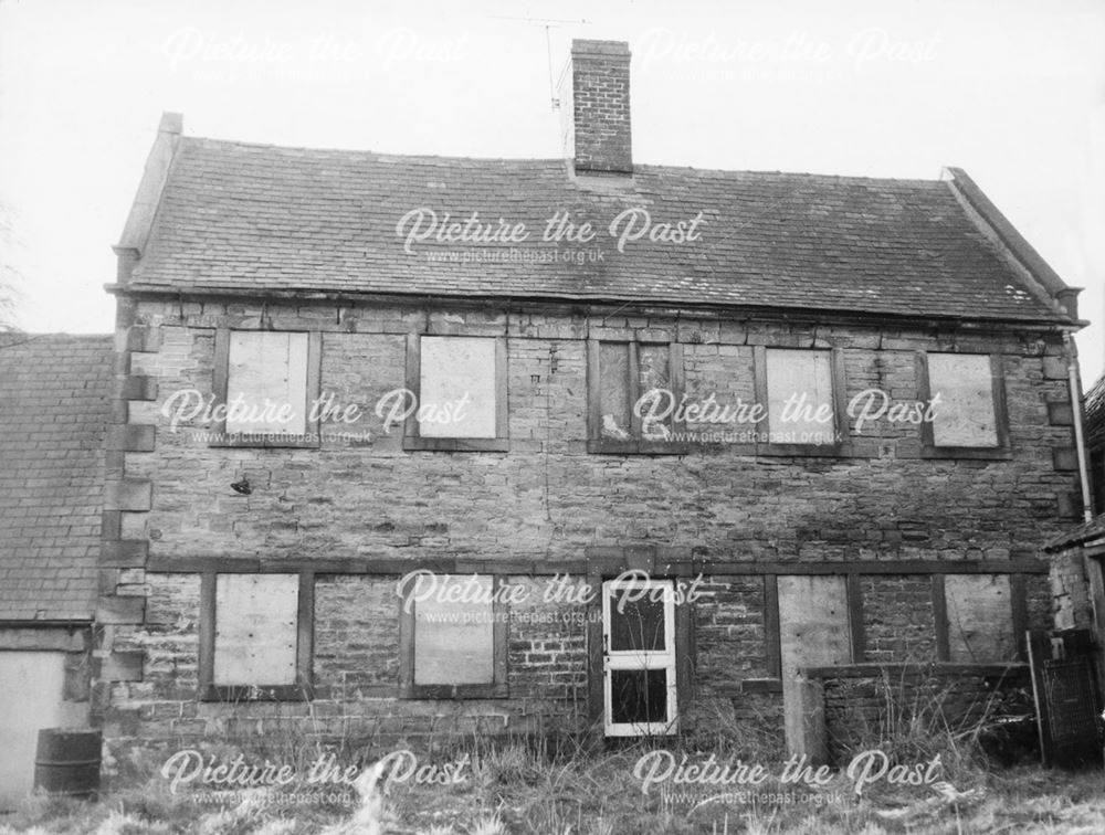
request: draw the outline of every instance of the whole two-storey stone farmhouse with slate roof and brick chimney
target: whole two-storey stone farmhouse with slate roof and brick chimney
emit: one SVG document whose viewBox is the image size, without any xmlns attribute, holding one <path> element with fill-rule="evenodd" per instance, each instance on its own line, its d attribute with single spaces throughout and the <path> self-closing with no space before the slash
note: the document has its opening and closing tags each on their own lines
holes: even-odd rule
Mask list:
<svg viewBox="0 0 1105 835">
<path fill-rule="evenodd" d="M 108 287 L 113 755 L 711 705 L 802 750 L 839 678 L 992 685 L 1051 625 L 1077 289 L 956 168 L 639 162 L 624 43 L 560 109 L 565 158 L 511 160 L 162 117 Z"/>
</svg>

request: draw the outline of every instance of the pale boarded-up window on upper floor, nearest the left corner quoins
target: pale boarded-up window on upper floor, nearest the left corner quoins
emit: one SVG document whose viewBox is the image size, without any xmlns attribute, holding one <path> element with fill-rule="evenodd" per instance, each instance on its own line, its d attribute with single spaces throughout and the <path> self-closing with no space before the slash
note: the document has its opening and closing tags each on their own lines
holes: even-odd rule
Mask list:
<svg viewBox="0 0 1105 835">
<path fill-rule="evenodd" d="M 235 405 L 239 404 L 239 405 Z M 230 335 L 227 432 L 303 434 L 307 425 L 307 335 Z"/>
</svg>

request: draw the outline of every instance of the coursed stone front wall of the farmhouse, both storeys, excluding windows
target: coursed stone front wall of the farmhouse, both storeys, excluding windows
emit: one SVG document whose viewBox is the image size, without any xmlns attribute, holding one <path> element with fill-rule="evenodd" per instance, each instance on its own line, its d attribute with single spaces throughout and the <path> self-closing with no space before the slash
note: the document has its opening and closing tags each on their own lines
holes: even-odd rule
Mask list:
<svg viewBox="0 0 1105 835">
<path fill-rule="evenodd" d="M 213 425 L 199 418 L 170 427 L 161 408 L 175 392 L 212 391 L 215 328 L 262 326 L 320 331 L 322 391 L 365 416 L 351 425 L 325 422 L 316 450 L 211 446 L 203 433 Z M 506 337 L 509 452 L 404 452 L 401 427 L 382 431 L 375 404 L 406 384 L 409 334 Z M 919 397 L 918 350 L 997 352 L 1011 453 L 928 459 L 916 425 L 877 422 L 850 426 L 851 454 L 843 457 L 757 455 L 724 443 L 682 456 L 589 454 L 586 338 L 643 335 L 681 342 L 687 393 L 714 393 L 723 403 L 755 399 L 756 346 L 840 348 L 849 398 L 877 387 L 901 401 Z M 96 685 L 112 738 L 232 736 L 288 718 L 306 728 L 382 728 L 399 737 L 431 726 L 464 732 L 586 725 L 587 628 L 582 612 L 579 622 L 565 620 L 562 606 L 512 612 L 508 699 L 388 696 L 398 665 L 396 604 L 387 591 L 394 578 L 358 573 L 365 563 L 462 561 L 473 571 L 502 563 L 507 574 L 539 563 L 547 573 L 561 564 L 578 572 L 592 549 L 635 547 L 704 564 L 772 563 L 775 573 L 788 563 L 1031 560 L 1076 509 L 1071 427 L 1054 408 L 1067 398 L 1057 339 L 675 311 L 147 299 L 120 304 L 117 343 L 117 416 L 128 429 L 117 433 L 120 448 L 108 462 L 98 653 L 137 659 L 138 667 Z M 230 487 L 243 478 L 250 495 Z M 197 702 L 199 579 L 191 572 L 204 560 L 318 567 L 315 701 Z M 335 569 L 341 561 L 350 572 Z M 741 708 L 776 709 L 777 690 L 744 687 L 771 677 L 762 578 L 722 569 L 707 579 L 708 601 L 693 619 L 701 691 Z M 872 659 L 932 656 L 928 584 L 914 574 L 863 580 Z M 1033 619 L 1040 599 L 1030 594 Z"/>
</svg>

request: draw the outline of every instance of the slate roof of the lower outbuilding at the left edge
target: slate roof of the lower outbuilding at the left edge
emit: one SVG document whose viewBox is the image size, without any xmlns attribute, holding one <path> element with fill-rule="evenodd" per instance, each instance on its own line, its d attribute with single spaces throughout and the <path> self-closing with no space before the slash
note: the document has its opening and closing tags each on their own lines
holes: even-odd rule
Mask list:
<svg viewBox="0 0 1105 835">
<path fill-rule="evenodd" d="M 92 620 L 112 337 L 0 341 L 0 621 Z"/>
</svg>

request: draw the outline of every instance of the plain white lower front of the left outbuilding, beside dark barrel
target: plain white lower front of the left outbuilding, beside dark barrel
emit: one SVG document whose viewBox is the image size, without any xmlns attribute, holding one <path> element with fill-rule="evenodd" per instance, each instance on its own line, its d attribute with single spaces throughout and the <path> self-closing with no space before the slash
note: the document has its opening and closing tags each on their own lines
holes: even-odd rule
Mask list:
<svg viewBox="0 0 1105 835">
<path fill-rule="evenodd" d="M 74 725 L 78 706 L 62 702 L 64 680 L 64 653 L 0 652 L 0 810 L 34 785 L 39 731 Z"/>
</svg>

